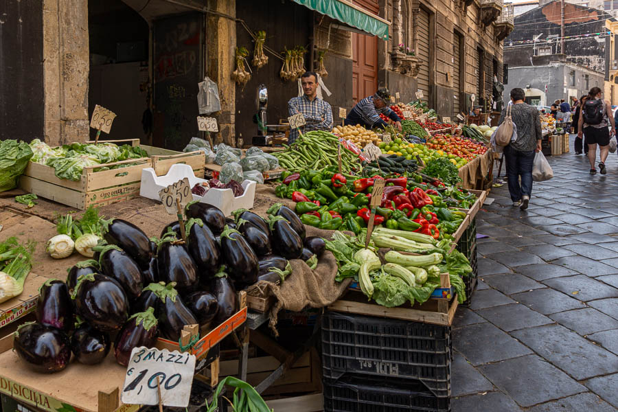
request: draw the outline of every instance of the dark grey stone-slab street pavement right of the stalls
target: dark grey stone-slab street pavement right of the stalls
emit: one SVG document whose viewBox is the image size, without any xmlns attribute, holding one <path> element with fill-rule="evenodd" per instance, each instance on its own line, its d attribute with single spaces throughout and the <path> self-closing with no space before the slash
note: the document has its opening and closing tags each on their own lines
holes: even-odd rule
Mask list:
<svg viewBox="0 0 618 412">
<path fill-rule="evenodd" d="M 453 325 L 453 412 L 618 411 L 618 155 L 605 176 L 573 150 L 548 160 L 527 211 L 505 183 L 477 216 L 488 237 Z"/>
</svg>

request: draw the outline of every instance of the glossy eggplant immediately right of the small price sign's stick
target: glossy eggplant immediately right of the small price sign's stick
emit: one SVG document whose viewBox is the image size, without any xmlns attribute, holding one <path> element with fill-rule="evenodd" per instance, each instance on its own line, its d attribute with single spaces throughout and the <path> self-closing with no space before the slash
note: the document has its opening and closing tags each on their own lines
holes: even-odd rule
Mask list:
<svg viewBox="0 0 618 412">
<path fill-rule="evenodd" d="M 187 249 L 191 254 L 200 280 L 204 282 L 214 275 L 220 266 L 221 251 L 212 231 L 199 219 L 190 219 L 186 225 Z"/>
</svg>

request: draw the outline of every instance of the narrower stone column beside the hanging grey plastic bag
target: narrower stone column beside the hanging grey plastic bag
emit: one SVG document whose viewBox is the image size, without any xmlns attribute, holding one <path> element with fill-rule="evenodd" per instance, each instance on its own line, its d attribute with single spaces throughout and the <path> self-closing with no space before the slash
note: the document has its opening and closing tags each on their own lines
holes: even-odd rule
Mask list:
<svg viewBox="0 0 618 412">
<path fill-rule="evenodd" d="M 208 0 L 209 10 L 236 17 L 236 1 Z M 206 73 L 219 87 L 221 111 L 216 115 L 220 134 L 218 139 L 229 146 L 236 140 L 236 83 L 231 80 L 235 65 L 236 21 L 216 14 L 207 14 Z M 218 143 L 218 142 L 217 142 Z"/>
</svg>

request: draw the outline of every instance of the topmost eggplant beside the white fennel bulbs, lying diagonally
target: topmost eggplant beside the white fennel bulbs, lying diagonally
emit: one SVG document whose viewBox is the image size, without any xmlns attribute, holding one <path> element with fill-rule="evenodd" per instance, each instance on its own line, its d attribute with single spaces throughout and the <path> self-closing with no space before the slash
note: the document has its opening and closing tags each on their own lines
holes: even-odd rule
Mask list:
<svg viewBox="0 0 618 412">
<path fill-rule="evenodd" d="M 142 269 L 148 268 L 152 252 L 146 233 L 126 220 L 111 219 L 102 222 L 104 240 L 126 251 Z"/>
</svg>

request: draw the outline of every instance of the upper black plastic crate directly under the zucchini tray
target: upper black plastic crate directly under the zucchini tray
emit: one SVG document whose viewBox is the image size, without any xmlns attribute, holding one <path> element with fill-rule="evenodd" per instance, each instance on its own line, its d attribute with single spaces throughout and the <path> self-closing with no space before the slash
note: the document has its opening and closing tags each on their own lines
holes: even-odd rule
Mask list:
<svg viewBox="0 0 618 412">
<path fill-rule="evenodd" d="M 449 326 L 325 312 L 325 379 L 367 374 L 419 380 L 434 396 L 450 396 L 453 347 Z"/>
</svg>

